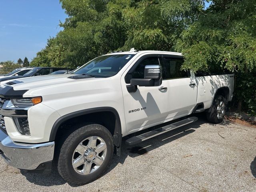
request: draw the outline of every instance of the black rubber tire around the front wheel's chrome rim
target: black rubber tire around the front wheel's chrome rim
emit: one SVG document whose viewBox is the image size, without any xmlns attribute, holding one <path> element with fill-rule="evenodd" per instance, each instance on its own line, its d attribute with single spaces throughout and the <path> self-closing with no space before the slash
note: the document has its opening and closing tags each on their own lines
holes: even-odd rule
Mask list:
<svg viewBox="0 0 256 192">
<path fill-rule="evenodd" d="M 102 165 L 97 170 L 90 174 L 82 175 L 77 173 L 72 166 L 73 153 L 78 144 L 90 136 L 98 136 L 105 141 L 106 156 Z M 69 184 L 87 184 L 98 179 L 104 173 L 112 158 L 113 150 L 113 137 L 107 128 L 99 124 L 80 126 L 80 128 L 76 129 L 64 140 L 62 145 L 60 144 L 59 152 L 56 154 L 58 158 L 58 172 Z"/>
</svg>

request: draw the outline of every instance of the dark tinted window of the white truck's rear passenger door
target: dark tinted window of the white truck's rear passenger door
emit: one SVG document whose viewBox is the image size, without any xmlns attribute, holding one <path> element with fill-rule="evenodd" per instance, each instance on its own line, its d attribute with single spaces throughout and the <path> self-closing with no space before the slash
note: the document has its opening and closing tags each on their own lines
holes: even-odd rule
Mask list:
<svg viewBox="0 0 256 192">
<path fill-rule="evenodd" d="M 184 60 L 179 58 L 163 58 L 165 77 L 163 79 L 186 78 L 188 72 L 180 70 Z"/>
</svg>

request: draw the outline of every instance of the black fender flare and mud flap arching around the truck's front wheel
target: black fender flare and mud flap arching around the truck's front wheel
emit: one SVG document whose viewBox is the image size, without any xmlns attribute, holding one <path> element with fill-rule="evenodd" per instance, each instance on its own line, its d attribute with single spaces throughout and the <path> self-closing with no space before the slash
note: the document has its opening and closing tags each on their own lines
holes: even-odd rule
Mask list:
<svg viewBox="0 0 256 192">
<path fill-rule="evenodd" d="M 69 120 L 69 119 L 72 119 L 74 117 L 81 116 L 81 115 L 95 113 L 95 112 L 112 112 L 112 113 L 114 113 L 114 115 L 116 116 L 116 122 L 115 122 L 115 130 L 114 130 L 113 139 L 114 139 L 115 146 L 117 148 L 120 148 L 121 143 L 122 143 L 121 121 L 120 121 L 120 117 L 119 117 L 118 112 L 116 111 L 116 109 L 114 109 L 112 107 L 97 107 L 97 108 L 90 108 L 90 109 L 79 110 L 79 111 L 72 112 L 72 113 L 66 114 L 66 115 L 58 118 L 58 120 L 56 120 L 56 122 L 52 126 L 52 130 L 51 130 L 51 133 L 50 133 L 49 141 L 54 141 L 55 140 L 58 128 L 66 120 Z"/>
</svg>

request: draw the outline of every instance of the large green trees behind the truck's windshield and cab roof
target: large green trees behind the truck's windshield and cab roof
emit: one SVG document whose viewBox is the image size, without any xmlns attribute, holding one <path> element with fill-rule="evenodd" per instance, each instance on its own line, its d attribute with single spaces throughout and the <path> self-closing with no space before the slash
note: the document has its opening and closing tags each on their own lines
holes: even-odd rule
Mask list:
<svg viewBox="0 0 256 192">
<path fill-rule="evenodd" d="M 64 28 L 33 65 L 81 66 L 114 50 L 174 50 L 179 34 L 197 19 L 203 0 L 60 0 Z"/>
</svg>

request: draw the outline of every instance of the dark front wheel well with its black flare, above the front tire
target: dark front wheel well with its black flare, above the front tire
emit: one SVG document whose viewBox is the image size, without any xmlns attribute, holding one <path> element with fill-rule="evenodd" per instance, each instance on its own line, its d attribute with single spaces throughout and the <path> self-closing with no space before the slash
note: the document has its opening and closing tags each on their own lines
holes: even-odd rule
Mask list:
<svg viewBox="0 0 256 192">
<path fill-rule="evenodd" d="M 121 155 L 122 127 L 118 112 L 112 107 L 84 109 L 60 117 L 52 126 L 50 141 L 61 143 L 74 132 L 77 124 L 96 123 L 106 127 L 113 136 L 115 153 Z"/>
</svg>

